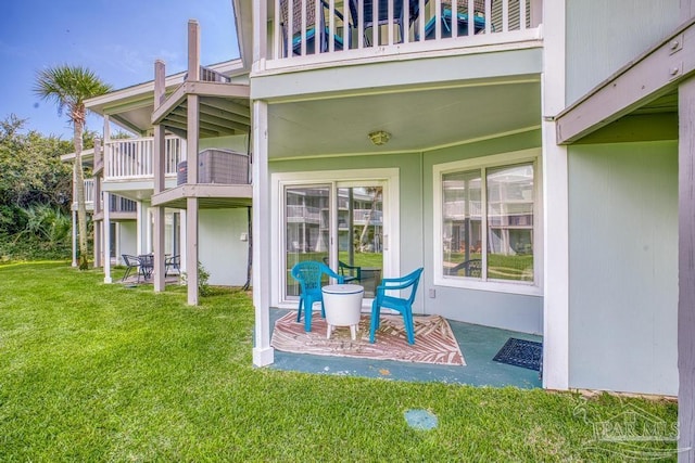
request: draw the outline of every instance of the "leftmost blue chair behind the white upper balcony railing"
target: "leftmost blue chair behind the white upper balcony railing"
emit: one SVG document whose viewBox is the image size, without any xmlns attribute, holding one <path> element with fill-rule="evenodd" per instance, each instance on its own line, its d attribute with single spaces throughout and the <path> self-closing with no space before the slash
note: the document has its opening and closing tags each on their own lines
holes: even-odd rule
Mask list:
<svg viewBox="0 0 695 463">
<path fill-rule="evenodd" d="M 321 14 L 319 17 L 319 34 L 316 37 L 316 0 L 306 0 L 306 54 L 316 53 L 318 40 L 318 50 L 320 52 L 327 52 L 329 50 L 329 27 L 326 26 L 326 12 L 329 11 L 329 4 L 325 0 L 319 0 L 321 3 Z M 344 23 L 343 15 L 333 10 L 333 13 Z M 302 54 L 302 0 L 292 0 L 292 39 L 288 38 L 288 25 L 289 25 L 289 8 L 288 0 L 280 1 L 280 27 L 282 30 L 282 48 L 285 56 L 290 55 L 290 49 L 292 54 Z M 344 27 L 345 30 L 350 30 L 350 27 Z M 342 50 L 344 44 L 344 38 L 338 34 L 333 34 L 333 42 L 336 50 Z M 348 40 L 350 42 L 350 40 Z"/>
</svg>

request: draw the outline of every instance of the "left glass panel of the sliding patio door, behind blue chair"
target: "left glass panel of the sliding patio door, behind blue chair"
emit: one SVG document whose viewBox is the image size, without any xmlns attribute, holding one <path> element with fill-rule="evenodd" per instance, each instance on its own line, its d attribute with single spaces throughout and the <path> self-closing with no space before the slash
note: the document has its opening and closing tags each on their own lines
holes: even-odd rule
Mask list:
<svg viewBox="0 0 695 463">
<path fill-rule="evenodd" d="M 330 187 L 296 187 L 285 190 L 287 296 L 300 294 L 299 283 L 290 274 L 295 263 L 304 260 L 328 261 L 329 223 Z"/>
</svg>

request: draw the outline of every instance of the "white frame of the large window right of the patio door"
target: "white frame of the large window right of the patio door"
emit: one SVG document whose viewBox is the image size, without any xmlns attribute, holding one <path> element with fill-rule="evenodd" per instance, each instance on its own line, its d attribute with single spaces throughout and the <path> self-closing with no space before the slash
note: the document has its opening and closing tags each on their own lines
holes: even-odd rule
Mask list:
<svg viewBox="0 0 695 463">
<path fill-rule="evenodd" d="M 520 163 L 533 163 L 533 282 L 525 281 L 481 281 L 472 278 L 452 276 L 444 274 L 444 240 L 443 236 L 443 197 L 442 177 L 446 173 L 473 169 L 490 169 L 495 167 L 511 166 Z M 484 173 L 484 171 L 483 171 Z M 476 157 L 472 159 L 456 160 L 438 164 L 432 167 L 433 187 L 433 282 L 437 286 L 459 287 L 467 290 L 491 291 L 496 293 L 523 294 L 541 296 L 543 294 L 542 263 L 543 263 L 543 185 L 541 172 L 541 150 L 522 150 L 492 156 Z M 483 189 L 484 190 L 484 189 Z M 481 204 L 484 204 L 485 216 L 488 214 L 486 191 L 482 191 Z M 483 245 L 486 249 L 486 227 L 482 228 Z M 483 249 L 483 250 L 484 250 Z M 484 256 L 483 256 L 484 257 Z"/>
</svg>

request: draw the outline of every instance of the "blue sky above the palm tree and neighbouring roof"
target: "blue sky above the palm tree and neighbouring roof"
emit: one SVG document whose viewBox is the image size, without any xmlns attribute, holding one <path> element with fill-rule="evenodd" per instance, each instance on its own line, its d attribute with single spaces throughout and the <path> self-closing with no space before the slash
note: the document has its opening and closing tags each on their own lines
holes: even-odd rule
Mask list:
<svg viewBox="0 0 695 463">
<path fill-rule="evenodd" d="M 201 62 L 239 56 L 231 0 L 20 0 L 0 14 L 0 118 L 28 119 L 27 129 L 72 140 L 72 128 L 54 103 L 31 88 L 37 70 L 62 64 L 86 66 L 114 89 L 153 78 L 154 60 L 166 74 L 186 68 L 187 23 L 201 26 Z M 101 118 L 90 130 L 101 132 Z"/>
</svg>

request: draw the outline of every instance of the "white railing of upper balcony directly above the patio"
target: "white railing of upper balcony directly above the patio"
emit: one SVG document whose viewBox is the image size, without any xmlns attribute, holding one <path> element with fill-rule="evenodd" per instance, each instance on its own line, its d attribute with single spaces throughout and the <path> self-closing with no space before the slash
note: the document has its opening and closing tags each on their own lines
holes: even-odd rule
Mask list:
<svg viewBox="0 0 695 463">
<path fill-rule="evenodd" d="M 412 50 L 421 51 L 523 40 L 534 36 L 525 33 L 538 28 L 542 14 L 542 0 L 270 1 L 280 27 L 274 30 L 269 61 L 320 54 L 340 60 L 368 50 L 381 55 L 390 48 L 402 53 L 409 43 L 419 43 Z"/>
</svg>

